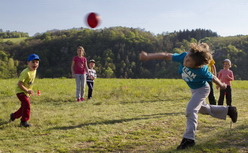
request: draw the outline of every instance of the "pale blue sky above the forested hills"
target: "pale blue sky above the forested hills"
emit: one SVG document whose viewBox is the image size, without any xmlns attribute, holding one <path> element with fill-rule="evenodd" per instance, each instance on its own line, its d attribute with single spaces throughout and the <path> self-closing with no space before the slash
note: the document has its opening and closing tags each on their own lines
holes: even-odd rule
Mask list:
<svg viewBox="0 0 248 153">
<path fill-rule="evenodd" d="M 84 27 L 98 13 L 97 27 L 141 28 L 154 34 L 209 29 L 220 36 L 248 35 L 247 0 L 1 0 L 0 29 L 28 32 Z"/>
</svg>

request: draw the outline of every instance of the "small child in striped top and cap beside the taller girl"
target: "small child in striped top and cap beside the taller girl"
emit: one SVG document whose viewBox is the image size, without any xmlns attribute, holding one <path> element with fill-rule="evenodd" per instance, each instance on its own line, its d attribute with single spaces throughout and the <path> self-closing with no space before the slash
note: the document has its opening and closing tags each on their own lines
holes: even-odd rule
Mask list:
<svg viewBox="0 0 248 153">
<path fill-rule="evenodd" d="M 87 73 L 87 85 L 88 85 L 88 99 L 92 98 L 92 92 L 94 88 L 94 80 L 96 79 L 96 70 L 94 70 L 95 67 L 95 60 L 90 60 L 89 63 L 89 73 Z"/>
</svg>

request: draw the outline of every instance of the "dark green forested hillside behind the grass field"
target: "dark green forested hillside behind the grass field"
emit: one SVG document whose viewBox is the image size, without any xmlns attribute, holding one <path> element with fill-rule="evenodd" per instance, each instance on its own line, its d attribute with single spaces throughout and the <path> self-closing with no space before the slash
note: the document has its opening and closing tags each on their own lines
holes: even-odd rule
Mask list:
<svg viewBox="0 0 248 153">
<path fill-rule="evenodd" d="M 27 37 L 20 43 L 4 38 Z M 110 27 L 103 29 L 72 28 L 51 30 L 29 37 L 23 32 L 0 29 L 0 78 L 18 77 L 26 67 L 27 57 L 41 58 L 38 78 L 70 78 L 72 58 L 77 47 L 83 46 L 89 61 L 96 61 L 100 78 L 180 78 L 178 63 L 165 60 L 140 61 L 139 53 L 146 51 L 182 53 L 190 43 L 205 42 L 213 51 L 217 71 L 222 61 L 232 61 L 230 68 L 236 80 L 248 78 L 248 36 L 221 37 L 206 29 L 180 30 L 153 34 L 140 28 Z"/>
</svg>

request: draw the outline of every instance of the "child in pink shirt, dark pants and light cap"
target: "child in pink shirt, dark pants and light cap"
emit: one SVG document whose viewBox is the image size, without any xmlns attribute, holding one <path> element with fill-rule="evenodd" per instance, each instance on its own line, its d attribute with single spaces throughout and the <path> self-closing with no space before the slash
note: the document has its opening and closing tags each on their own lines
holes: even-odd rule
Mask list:
<svg viewBox="0 0 248 153">
<path fill-rule="evenodd" d="M 231 81 L 234 80 L 234 76 L 232 70 L 229 69 L 231 67 L 231 61 L 229 59 L 225 59 L 222 62 L 222 64 L 223 64 L 223 69 L 220 70 L 218 74 L 218 78 L 220 79 L 221 82 L 227 84 L 227 88 L 220 89 L 220 97 L 219 97 L 218 105 L 223 105 L 224 96 L 226 94 L 226 104 L 227 106 L 232 106 Z"/>
</svg>

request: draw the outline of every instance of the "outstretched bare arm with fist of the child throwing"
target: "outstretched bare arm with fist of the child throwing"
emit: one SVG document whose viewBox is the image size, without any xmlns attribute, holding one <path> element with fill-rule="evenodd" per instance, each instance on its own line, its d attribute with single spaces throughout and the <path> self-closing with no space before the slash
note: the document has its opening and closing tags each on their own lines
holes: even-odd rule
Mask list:
<svg viewBox="0 0 248 153">
<path fill-rule="evenodd" d="M 147 61 L 152 59 L 166 59 L 172 60 L 172 53 L 146 53 L 142 51 L 140 53 L 140 60 Z"/>
</svg>

